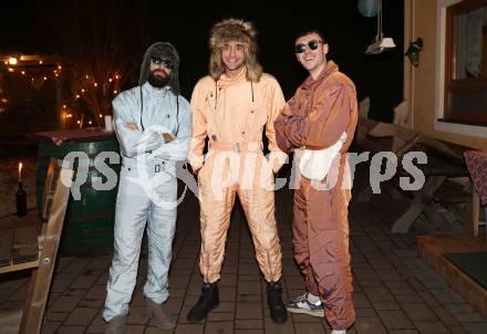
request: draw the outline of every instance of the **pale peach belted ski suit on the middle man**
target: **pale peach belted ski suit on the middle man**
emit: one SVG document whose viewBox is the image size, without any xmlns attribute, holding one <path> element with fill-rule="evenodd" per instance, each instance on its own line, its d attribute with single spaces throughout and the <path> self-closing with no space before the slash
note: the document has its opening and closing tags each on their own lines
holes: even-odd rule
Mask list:
<svg viewBox="0 0 487 334">
<path fill-rule="evenodd" d="M 273 173 L 287 156 L 276 144 L 273 122 L 286 101 L 279 83 L 263 73 L 259 82 L 203 77 L 191 96 L 193 139 L 189 163 L 199 168 L 201 251 L 205 283 L 220 278 L 225 241 L 237 194 L 252 233 L 257 261 L 265 279 L 279 281 L 281 248 L 276 227 Z M 269 139 L 269 160 L 262 154 L 262 128 Z M 205 138 L 208 154 L 204 158 Z M 203 167 L 201 167 L 203 166 Z"/>
</svg>

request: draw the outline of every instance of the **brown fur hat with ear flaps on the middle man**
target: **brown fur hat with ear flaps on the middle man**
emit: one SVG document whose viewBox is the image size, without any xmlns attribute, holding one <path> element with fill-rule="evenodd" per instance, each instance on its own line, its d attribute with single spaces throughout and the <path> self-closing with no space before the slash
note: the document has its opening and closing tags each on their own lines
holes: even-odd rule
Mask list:
<svg viewBox="0 0 487 334">
<path fill-rule="evenodd" d="M 262 75 L 262 66 L 257 60 L 257 30 L 253 23 L 239 19 L 225 19 L 211 28 L 209 48 L 209 74 L 218 80 L 225 73 L 221 60 L 221 48 L 229 42 L 240 42 L 245 45 L 245 63 L 247 65 L 247 80 L 258 82 Z"/>
</svg>

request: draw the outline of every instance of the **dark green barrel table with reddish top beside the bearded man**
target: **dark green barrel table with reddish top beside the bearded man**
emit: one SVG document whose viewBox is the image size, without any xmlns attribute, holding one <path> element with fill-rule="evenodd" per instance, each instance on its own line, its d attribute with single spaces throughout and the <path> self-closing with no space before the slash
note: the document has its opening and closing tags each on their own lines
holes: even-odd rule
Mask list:
<svg viewBox="0 0 487 334">
<path fill-rule="evenodd" d="M 115 218 L 115 201 L 118 187 L 110 190 L 97 190 L 93 187 L 93 177 L 105 179 L 106 176 L 95 166 L 95 159 L 101 153 L 112 152 L 118 155 L 120 147 L 113 132 L 104 128 L 86 128 L 56 132 L 42 132 L 30 135 L 31 140 L 39 143 L 37 195 L 38 207 L 42 208 L 42 187 L 46 168 L 52 157 L 64 159 L 72 152 L 80 152 L 90 158 L 86 181 L 79 186 L 81 197 L 70 197 L 63 240 L 60 252 L 63 255 L 95 255 L 110 253 L 113 248 L 113 226 Z M 121 161 L 104 161 L 116 175 L 120 175 Z M 76 163 L 74 170 L 77 175 Z"/>
</svg>

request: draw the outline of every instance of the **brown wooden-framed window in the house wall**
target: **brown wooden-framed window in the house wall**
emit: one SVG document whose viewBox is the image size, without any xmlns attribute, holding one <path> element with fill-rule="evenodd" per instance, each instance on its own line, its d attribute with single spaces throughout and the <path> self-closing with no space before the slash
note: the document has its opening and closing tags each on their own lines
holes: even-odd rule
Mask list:
<svg viewBox="0 0 487 334">
<path fill-rule="evenodd" d="M 444 118 L 487 125 L 487 0 L 446 11 Z"/>
</svg>

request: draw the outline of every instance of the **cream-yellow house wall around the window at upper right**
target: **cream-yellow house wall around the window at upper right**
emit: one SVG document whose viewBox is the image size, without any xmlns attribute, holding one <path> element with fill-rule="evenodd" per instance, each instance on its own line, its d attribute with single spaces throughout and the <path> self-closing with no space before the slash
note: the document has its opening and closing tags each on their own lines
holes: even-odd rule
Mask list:
<svg viewBox="0 0 487 334">
<path fill-rule="evenodd" d="M 405 0 L 404 50 L 421 36 L 419 66 L 404 58 L 404 98 L 410 102 L 410 126 L 433 137 L 487 150 L 487 127 L 438 122 L 443 117 L 444 41 L 442 8 L 458 0 Z M 444 10 L 443 10 L 444 12 Z"/>
</svg>

